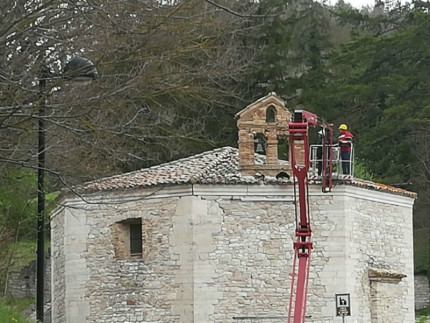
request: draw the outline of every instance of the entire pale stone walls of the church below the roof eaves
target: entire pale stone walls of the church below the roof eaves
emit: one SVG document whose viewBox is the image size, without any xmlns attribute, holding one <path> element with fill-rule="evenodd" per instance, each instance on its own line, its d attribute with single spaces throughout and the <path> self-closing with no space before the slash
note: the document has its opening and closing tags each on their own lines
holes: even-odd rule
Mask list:
<svg viewBox="0 0 430 323">
<path fill-rule="evenodd" d="M 392 285 L 390 302 L 402 306 L 391 322 L 414 322 L 411 199 L 350 186 L 310 191 L 307 322 L 335 321 L 338 293 L 351 295 L 353 322 L 382 322 L 393 308 L 371 311 L 372 301 L 381 304 L 371 268 L 407 276 Z M 66 200 L 53 217 L 54 322 L 285 322 L 291 186 L 194 185 L 100 202 Z M 115 225 L 136 218 L 142 256 L 119 259 Z"/>
</svg>

